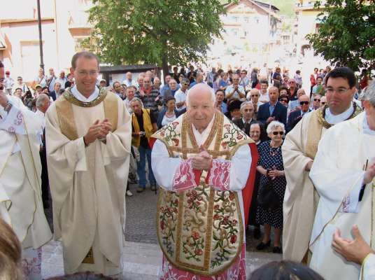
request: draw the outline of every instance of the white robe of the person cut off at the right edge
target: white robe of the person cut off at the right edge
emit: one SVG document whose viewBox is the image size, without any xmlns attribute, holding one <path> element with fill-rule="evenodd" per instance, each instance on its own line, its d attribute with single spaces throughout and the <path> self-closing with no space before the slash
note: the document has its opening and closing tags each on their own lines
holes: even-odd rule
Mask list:
<svg viewBox="0 0 375 280">
<path fill-rule="evenodd" d="M 310 241 L 310 267 L 325 279 L 360 276 L 360 265 L 347 262 L 331 246 L 337 228 L 342 237 L 353 239 L 351 228 L 357 224 L 365 241 L 374 248 L 374 182 L 367 184 L 359 201 L 366 162 L 374 157 L 375 132 L 369 130 L 365 113 L 335 125 L 320 140 L 310 172 L 320 195 Z"/>
</svg>

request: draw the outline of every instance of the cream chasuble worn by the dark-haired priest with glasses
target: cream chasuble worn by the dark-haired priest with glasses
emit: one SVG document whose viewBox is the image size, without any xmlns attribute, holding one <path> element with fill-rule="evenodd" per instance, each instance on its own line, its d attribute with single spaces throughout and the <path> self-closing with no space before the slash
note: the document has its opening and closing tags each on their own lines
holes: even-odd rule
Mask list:
<svg viewBox="0 0 375 280">
<path fill-rule="evenodd" d="M 314 160 L 320 138 L 332 125 L 325 120 L 327 106 L 306 114 L 285 137 L 281 150 L 287 186 L 283 202 L 283 258 L 307 262 L 313 220 L 318 207 L 309 172 L 304 168 Z M 362 112 L 353 103 L 350 118 Z"/>
</svg>

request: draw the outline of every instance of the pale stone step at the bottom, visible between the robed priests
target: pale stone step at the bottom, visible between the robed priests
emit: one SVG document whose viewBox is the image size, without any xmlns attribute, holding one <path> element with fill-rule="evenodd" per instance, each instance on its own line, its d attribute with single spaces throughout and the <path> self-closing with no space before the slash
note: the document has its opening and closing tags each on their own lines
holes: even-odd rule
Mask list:
<svg viewBox="0 0 375 280">
<path fill-rule="evenodd" d="M 43 279 L 64 274 L 62 246 L 59 241 L 50 241 L 43 246 L 42 254 Z M 273 260 L 281 260 L 280 254 L 246 252 L 246 272 Z M 125 242 L 123 261 L 123 279 L 156 280 L 162 265 L 162 251 L 157 244 Z"/>
</svg>

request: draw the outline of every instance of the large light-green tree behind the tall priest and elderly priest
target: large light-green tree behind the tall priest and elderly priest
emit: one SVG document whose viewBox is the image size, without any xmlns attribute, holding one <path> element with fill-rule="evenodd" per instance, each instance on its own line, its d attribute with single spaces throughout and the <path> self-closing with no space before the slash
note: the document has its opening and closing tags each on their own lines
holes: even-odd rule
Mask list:
<svg viewBox="0 0 375 280">
<path fill-rule="evenodd" d="M 220 37 L 219 0 L 93 0 L 91 44 L 104 62 L 171 65 L 202 61 Z"/>
</svg>

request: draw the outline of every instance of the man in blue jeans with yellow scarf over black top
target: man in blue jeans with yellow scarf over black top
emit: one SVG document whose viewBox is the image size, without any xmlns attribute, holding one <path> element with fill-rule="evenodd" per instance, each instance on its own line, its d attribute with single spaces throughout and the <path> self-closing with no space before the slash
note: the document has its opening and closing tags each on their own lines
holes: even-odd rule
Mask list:
<svg viewBox="0 0 375 280">
<path fill-rule="evenodd" d="M 148 162 L 148 182 L 151 190 L 156 190 L 156 181 L 151 168 L 151 148 L 149 140 L 151 134 L 157 131 L 157 119 L 150 112 L 144 109 L 141 99 L 134 97 L 130 102 L 132 106 L 132 146 L 138 148 L 139 162 L 137 172 L 139 176 L 139 186 L 137 193 L 142 193 L 146 189 L 146 158 Z"/>
</svg>

